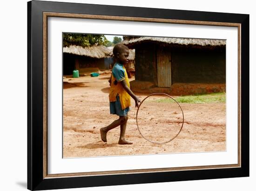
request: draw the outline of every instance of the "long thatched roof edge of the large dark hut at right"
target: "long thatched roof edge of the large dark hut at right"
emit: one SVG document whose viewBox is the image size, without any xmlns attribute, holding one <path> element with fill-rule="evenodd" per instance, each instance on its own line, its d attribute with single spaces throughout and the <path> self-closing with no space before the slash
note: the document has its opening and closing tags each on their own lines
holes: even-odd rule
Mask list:
<svg viewBox="0 0 256 191">
<path fill-rule="evenodd" d="M 142 42 L 157 42 L 176 45 L 200 45 L 200 46 L 222 46 L 226 40 L 203 39 L 203 38 L 165 38 L 165 37 L 131 37 L 124 36 L 123 45 L 133 46 Z"/>
</svg>

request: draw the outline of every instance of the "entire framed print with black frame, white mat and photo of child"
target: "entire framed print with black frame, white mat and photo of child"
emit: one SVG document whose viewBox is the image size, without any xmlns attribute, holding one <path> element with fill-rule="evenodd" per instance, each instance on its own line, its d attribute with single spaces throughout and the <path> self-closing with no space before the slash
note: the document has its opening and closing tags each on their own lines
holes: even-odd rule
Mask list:
<svg viewBox="0 0 256 191">
<path fill-rule="evenodd" d="M 249 176 L 249 15 L 27 6 L 29 190 Z"/>
</svg>

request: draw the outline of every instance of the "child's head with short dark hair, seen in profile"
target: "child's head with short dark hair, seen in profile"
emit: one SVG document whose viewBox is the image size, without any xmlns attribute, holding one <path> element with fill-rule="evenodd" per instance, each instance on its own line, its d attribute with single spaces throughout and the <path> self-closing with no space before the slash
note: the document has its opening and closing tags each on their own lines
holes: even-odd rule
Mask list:
<svg viewBox="0 0 256 191">
<path fill-rule="evenodd" d="M 128 63 L 129 49 L 127 46 L 122 44 L 116 44 L 113 48 L 113 54 L 116 62 L 120 64 Z"/>
</svg>

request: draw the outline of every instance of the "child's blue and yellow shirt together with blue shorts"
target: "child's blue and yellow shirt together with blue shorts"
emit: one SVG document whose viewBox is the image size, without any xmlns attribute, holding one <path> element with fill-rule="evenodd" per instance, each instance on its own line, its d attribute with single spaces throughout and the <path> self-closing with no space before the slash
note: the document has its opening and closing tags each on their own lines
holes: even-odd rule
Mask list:
<svg viewBox="0 0 256 191">
<path fill-rule="evenodd" d="M 119 116 L 126 116 L 131 105 L 131 97 L 120 83 L 125 80 L 128 88 L 130 83 L 123 64 L 115 63 L 112 69 L 112 77 L 109 91 L 110 113 Z M 120 111 L 121 110 L 121 111 Z"/>
</svg>

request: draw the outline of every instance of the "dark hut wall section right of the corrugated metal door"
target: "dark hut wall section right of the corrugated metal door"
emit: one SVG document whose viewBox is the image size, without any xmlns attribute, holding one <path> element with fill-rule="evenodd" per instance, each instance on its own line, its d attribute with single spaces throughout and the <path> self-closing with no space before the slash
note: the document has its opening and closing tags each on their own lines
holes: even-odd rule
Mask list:
<svg viewBox="0 0 256 191">
<path fill-rule="evenodd" d="M 226 50 L 172 48 L 172 83 L 225 83 Z"/>
</svg>

